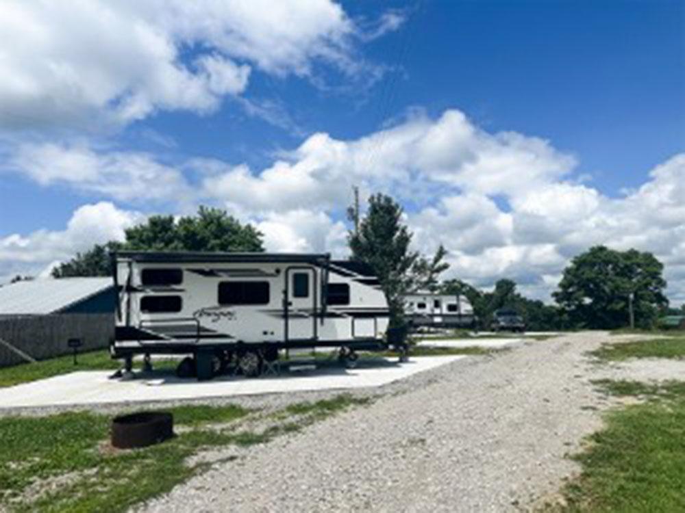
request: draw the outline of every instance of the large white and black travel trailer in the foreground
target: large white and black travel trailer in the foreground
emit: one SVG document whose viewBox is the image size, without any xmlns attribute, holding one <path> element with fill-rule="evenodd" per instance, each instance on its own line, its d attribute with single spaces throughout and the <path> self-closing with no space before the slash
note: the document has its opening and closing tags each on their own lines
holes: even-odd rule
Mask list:
<svg viewBox="0 0 685 513">
<path fill-rule="evenodd" d="M 356 350 L 387 347 L 388 304 L 360 263 L 329 254 L 121 251 L 112 267 L 119 300 L 111 353 L 127 370 L 135 354 L 190 354 L 182 365 L 199 378 L 229 363 L 256 376 L 280 349 L 340 347 L 356 358 Z"/>
</svg>

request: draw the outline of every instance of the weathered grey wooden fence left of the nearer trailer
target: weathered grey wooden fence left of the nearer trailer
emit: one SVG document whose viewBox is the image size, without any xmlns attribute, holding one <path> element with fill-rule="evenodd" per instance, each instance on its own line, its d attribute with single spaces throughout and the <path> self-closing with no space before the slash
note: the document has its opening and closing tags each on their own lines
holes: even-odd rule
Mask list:
<svg viewBox="0 0 685 513">
<path fill-rule="evenodd" d="M 81 339 L 79 352 L 107 347 L 114 337 L 113 313 L 65 313 L 0 317 L 0 339 L 14 345 L 36 360 L 71 354 L 69 339 Z M 0 344 L 0 367 L 25 360 Z"/>
</svg>

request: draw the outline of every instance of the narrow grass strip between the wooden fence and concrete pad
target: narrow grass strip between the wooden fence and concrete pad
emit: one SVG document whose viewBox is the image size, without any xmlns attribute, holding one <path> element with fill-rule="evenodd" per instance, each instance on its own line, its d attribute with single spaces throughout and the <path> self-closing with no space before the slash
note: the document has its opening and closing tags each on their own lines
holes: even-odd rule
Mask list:
<svg viewBox="0 0 685 513">
<path fill-rule="evenodd" d="M 120 366 L 121 363 L 112 360 L 106 350 L 79 354 L 78 365 L 74 365 L 71 355 L 59 356 L 36 363 L 21 363 L 0 369 L 0 387 L 42 380 L 74 371 L 109 370 L 118 369 Z"/>
</svg>

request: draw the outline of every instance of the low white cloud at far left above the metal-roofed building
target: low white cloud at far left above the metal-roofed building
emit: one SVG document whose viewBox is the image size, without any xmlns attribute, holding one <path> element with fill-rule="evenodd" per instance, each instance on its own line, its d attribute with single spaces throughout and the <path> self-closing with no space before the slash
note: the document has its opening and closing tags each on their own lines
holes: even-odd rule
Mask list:
<svg viewBox="0 0 685 513">
<path fill-rule="evenodd" d="M 144 219 L 110 202 L 83 205 L 74 211 L 62 231 L 38 230 L 0 238 L 0 283 L 16 274 L 49 274 L 58 262 L 70 259 L 93 244 L 124 239 L 124 230 Z"/>
</svg>

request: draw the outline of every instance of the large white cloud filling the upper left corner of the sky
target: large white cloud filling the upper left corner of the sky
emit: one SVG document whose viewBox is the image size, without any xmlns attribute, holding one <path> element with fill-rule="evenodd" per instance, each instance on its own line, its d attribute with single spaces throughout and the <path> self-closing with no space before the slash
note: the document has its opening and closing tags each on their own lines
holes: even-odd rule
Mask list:
<svg viewBox="0 0 685 513">
<path fill-rule="evenodd" d="M 156 109 L 212 111 L 244 92 L 254 69 L 363 75 L 373 66 L 355 55 L 358 31 L 333 0 L 6 0 L 0 118 L 4 129 L 87 129 Z"/>
</svg>

